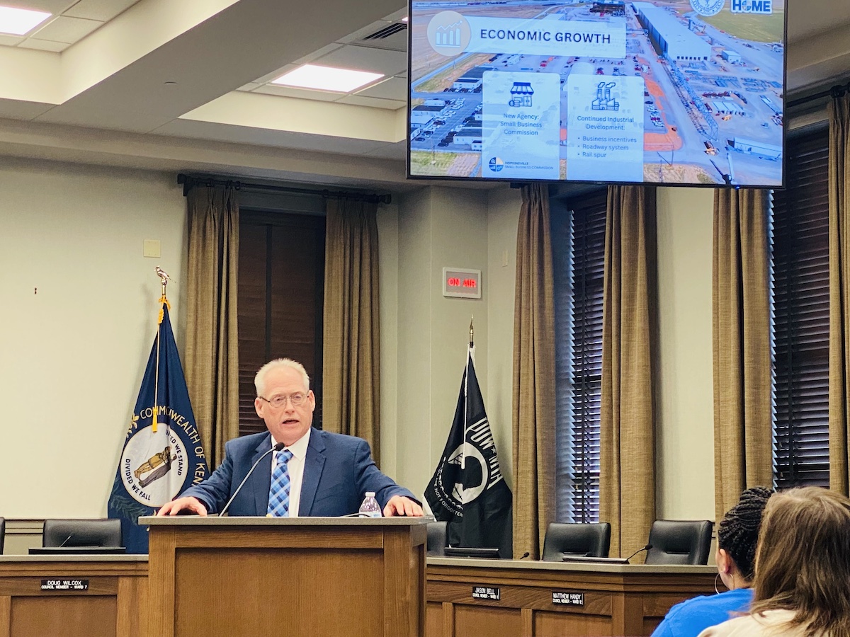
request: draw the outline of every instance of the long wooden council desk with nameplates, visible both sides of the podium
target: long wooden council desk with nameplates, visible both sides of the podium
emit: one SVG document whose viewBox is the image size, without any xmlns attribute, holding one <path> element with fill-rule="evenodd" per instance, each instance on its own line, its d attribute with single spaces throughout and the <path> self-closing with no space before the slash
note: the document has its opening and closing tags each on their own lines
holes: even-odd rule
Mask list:
<svg viewBox="0 0 850 637">
<path fill-rule="evenodd" d="M 649 635 L 673 604 L 713 594 L 716 573 L 429 557 L 425 634 Z M 2 637 L 146 637 L 148 596 L 146 555 L 0 556 Z"/>
</svg>

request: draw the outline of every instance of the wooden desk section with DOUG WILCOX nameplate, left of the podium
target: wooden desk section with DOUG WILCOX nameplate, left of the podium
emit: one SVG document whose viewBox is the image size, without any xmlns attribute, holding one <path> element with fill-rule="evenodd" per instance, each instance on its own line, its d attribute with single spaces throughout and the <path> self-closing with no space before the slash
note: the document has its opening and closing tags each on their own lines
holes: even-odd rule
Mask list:
<svg viewBox="0 0 850 637">
<path fill-rule="evenodd" d="M 88 590 L 42 590 L 42 579 L 87 579 Z M 145 555 L 0 557 L 0 637 L 144 637 Z"/>
</svg>

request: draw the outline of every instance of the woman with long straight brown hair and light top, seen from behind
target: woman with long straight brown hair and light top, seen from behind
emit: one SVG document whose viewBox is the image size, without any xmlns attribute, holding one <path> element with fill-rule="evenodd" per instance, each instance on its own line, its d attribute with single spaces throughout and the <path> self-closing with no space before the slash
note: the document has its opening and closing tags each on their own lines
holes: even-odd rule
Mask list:
<svg viewBox="0 0 850 637">
<path fill-rule="evenodd" d="M 850 637 L 850 499 L 819 487 L 764 510 L 750 612 L 700 637 Z"/>
</svg>

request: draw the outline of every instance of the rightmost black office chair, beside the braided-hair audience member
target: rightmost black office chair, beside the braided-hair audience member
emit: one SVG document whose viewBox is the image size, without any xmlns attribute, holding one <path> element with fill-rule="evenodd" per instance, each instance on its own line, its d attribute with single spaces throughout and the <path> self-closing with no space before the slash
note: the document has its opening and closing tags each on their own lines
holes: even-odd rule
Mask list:
<svg viewBox="0 0 850 637">
<path fill-rule="evenodd" d="M 708 564 L 711 550 L 709 520 L 656 520 L 649 529 L 645 564 Z"/>
</svg>

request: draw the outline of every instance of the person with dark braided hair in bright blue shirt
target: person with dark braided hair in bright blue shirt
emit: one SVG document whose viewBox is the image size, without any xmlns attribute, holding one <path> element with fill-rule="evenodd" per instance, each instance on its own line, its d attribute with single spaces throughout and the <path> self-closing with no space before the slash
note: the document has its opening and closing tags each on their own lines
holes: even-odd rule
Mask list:
<svg viewBox="0 0 850 637">
<path fill-rule="evenodd" d="M 752 580 L 762 512 L 773 490 L 753 487 L 741 493 L 717 529 L 717 577 L 728 588 L 717 595 L 701 595 L 670 609 L 652 637 L 696 637 L 737 612 L 747 612 L 752 602 Z M 715 585 L 717 590 L 717 585 Z"/>
</svg>

